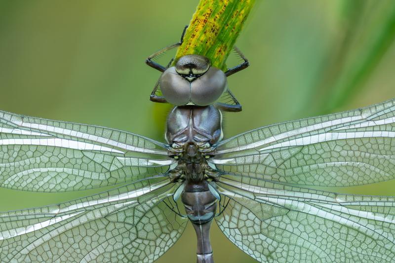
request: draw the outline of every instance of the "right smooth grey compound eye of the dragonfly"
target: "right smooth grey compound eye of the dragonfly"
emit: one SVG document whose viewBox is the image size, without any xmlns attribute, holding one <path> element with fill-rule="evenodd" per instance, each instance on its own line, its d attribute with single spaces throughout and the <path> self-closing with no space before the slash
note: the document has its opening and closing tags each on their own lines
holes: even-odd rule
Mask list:
<svg viewBox="0 0 395 263">
<path fill-rule="evenodd" d="M 191 101 L 197 106 L 213 104 L 227 88 L 226 75 L 218 68 L 208 71 L 191 82 Z"/>
</svg>

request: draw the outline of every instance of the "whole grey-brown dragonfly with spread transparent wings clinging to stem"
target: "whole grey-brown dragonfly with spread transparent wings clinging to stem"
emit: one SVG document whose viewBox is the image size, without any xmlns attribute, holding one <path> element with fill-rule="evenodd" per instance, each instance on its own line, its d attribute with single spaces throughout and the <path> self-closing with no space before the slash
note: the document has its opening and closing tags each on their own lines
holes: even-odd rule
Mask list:
<svg viewBox="0 0 395 263">
<path fill-rule="evenodd" d="M 335 193 L 395 177 L 395 100 L 223 138 L 241 110 L 227 77 L 198 54 L 162 66 L 151 100 L 168 102 L 165 143 L 116 129 L 0 112 L 0 187 L 114 188 L 0 213 L 5 262 L 154 262 L 197 233 L 214 261 L 213 221 L 259 262 L 393 262 L 395 197 Z"/>
</svg>

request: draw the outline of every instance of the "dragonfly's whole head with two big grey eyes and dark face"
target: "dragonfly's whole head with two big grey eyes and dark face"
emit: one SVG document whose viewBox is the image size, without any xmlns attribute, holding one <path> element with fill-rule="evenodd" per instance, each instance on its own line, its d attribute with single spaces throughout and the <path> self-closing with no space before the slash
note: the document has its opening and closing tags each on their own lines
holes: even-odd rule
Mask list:
<svg viewBox="0 0 395 263">
<path fill-rule="evenodd" d="M 228 87 L 226 75 L 212 67 L 208 58 L 196 54 L 179 58 L 159 82 L 163 97 L 176 106 L 213 104 Z"/>
</svg>

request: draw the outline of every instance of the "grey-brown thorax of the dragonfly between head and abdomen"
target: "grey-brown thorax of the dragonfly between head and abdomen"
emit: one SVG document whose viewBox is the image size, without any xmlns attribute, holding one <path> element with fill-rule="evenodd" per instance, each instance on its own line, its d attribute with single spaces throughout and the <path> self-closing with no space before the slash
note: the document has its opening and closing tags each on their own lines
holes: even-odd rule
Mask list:
<svg viewBox="0 0 395 263">
<path fill-rule="evenodd" d="M 201 181 L 209 174 L 206 158 L 223 137 L 221 112 L 214 106 L 175 107 L 169 113 L 165 137 L 171 146 L 169 155 L 179 160 L 173 176 Z"/>
</svg>

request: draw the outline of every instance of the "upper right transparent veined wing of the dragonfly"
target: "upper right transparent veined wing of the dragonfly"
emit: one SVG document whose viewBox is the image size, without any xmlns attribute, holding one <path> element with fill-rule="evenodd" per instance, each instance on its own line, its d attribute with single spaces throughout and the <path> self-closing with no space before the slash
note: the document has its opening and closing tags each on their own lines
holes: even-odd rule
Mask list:
<svg viewBox="0 0 395 263">
<path fill-rule="evenodd" d="M 356 186 L 395 178 L 395 100 L 258 128 L 217 146 L 224 174 L 301 186 Z"/>
</svg>

